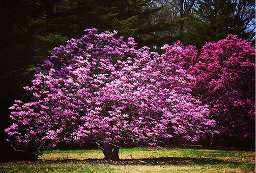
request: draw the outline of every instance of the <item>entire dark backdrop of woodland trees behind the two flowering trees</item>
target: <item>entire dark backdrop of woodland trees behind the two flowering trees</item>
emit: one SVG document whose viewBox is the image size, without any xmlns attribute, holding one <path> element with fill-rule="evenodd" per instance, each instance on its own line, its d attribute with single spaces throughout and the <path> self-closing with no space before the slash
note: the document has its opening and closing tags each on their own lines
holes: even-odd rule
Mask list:
<svg viewBox="0 0 256 173">
<path fill-rule="evenodd" d="M 36 64 L 85 28 L 117 30 L 155 51 L 177 40 L 201 48 L 228 34 L 254 43 L 255 1 L 1 0 L 0 25 L 0 143 L 9 151 L 3 132 L 8 107 L 24 94 Z"/>
</svg>

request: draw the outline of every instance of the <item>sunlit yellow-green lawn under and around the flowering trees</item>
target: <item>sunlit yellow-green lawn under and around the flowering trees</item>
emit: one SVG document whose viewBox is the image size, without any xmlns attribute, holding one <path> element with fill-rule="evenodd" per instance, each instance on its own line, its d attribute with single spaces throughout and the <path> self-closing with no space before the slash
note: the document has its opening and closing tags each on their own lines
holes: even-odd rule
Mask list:
<svg viewBox="0 0 256 173">
<path fill-rule="evenodd" d="M 49 150 L 35 162 L 0 163 L 0 173 L 254 173 L 255 152 L 211 149 L 120 150 L 122 160 L 106 163 L 101 150 Z M 149 162 L 147 159 L 148 158 Z M 157 158 L 167 160 L 164 163 Z M 92 162 L 90 159 L 97 159 Z M 150 160 L 152 163 L 150 163 Z M 104 162 L 104 163 L 102 163 Z"/>
</svg>

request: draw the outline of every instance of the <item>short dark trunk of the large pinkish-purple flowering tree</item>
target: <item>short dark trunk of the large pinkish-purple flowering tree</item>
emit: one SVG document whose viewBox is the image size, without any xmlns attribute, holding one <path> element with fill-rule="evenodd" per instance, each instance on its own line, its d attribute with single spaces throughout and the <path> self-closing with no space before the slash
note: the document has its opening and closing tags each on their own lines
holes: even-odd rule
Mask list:
<svg viewBox="0 0 256 173">
<path fill-rule="evenodd" d="M 103 144 L 102 151 L 107 160 L 119 160 L 119 148 L 108 144 Z"/>
</svg>

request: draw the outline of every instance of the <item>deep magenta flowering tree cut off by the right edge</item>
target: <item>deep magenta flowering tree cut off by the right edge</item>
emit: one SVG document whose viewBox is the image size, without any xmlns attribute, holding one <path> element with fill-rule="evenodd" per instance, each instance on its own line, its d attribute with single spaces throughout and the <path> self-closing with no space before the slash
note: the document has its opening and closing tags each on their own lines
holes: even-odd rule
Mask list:
<svg viewBox="0 0 256 173">
<path fill-rule="evenodd" d="M 187 66 L 197 78 L 195 95 L 210 106 L 221 133 L 255 139 L 255 49 L 229 35 L 201 51 Z"/>
</svg>

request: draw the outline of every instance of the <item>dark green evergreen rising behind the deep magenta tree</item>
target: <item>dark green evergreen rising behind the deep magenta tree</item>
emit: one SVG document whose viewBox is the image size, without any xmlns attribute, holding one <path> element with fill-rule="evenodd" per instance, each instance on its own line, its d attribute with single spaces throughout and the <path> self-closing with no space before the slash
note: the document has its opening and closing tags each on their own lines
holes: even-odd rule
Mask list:
<svg viewBox="0 0 256 173">
<path fill-rule="evenodd" d="M 198 48 L 206 42 L 224 39 L 228 34 L 248 40 L 252 33 L 247 18 L 241 16 L 237 8 L 234 0 L 200 0 L 199 7 L 194 9 L 195 16 L 189 16 L 188 32 L 181 35 L 181 40 Z"/>
</svg>

